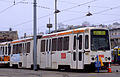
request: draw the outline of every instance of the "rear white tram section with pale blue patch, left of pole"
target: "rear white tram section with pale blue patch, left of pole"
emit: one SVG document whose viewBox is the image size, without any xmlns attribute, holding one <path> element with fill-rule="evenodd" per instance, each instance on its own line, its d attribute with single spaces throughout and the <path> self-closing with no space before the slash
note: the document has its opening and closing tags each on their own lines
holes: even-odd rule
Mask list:
<svg viewBox="0 0 120 77">
<path fill-rule="evenodd" d="M 33 64 L 33 40 L 25 38 L 11 42 L 10 66 L 14 68 L 31 68 Z"/>
</svg>

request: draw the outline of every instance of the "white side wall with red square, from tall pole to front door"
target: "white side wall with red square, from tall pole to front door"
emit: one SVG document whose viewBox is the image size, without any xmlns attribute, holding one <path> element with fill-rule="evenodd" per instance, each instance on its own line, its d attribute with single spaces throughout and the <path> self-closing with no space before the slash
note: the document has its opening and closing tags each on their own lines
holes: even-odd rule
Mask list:
<svg viewBox="0 0 120 77">
<path fill-rule="evenodd" d="M 58 69 L 66 66 L 67 68 L 74 68 L 72 42 L 72 35 L 39 40 L 40 44 L 38 45 L 40 48 L 38 51 L 40 51 L 40 68 Z"/>
</svg>

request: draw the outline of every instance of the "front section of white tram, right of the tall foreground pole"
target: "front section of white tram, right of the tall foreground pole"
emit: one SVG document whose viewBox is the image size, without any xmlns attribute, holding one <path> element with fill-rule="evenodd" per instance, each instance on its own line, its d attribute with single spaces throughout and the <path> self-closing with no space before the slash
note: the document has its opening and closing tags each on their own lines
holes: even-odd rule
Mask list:
<svg viewBox="0 0 120 77">
<path fill-rule="evenodd" d="M 104 66 L 111 62 L 109 31 L 105 28 L 85 27 L 51 33 L 38 39 L 40 68 L 95 68 L 96 57 Z"/>
</svg>

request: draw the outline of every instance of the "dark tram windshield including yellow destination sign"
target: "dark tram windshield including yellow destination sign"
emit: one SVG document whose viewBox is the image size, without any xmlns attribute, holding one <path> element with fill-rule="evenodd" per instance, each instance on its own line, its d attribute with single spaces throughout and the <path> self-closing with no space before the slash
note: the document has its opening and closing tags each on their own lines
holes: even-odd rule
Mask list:
<svg viewBox="0 0 120 77">
<path fill-rule="evenodd" d="M 91 30 L 91 50 L 110 50 L 108 30 Z"/>
</svg>

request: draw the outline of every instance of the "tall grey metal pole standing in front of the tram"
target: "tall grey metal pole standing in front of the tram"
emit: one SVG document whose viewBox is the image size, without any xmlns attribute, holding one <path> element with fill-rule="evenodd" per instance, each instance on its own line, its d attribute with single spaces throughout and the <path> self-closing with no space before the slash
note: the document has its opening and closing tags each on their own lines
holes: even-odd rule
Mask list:
<svg viewBox="0 0 120 77">
<path fill-rule="evenodd" d="M 37 2 L 36 0 L 34 0 L 34 5 L 33 5 L 33 14 L 34 14 L 34 21 L 33 21 L 33 34 L 34 34 L 34 44 L 33 44 L 33 70 L 34 71 L 37 71 L 37 9 L 36 9 L 36 6 L 37 6 Z"/>
</svg>

